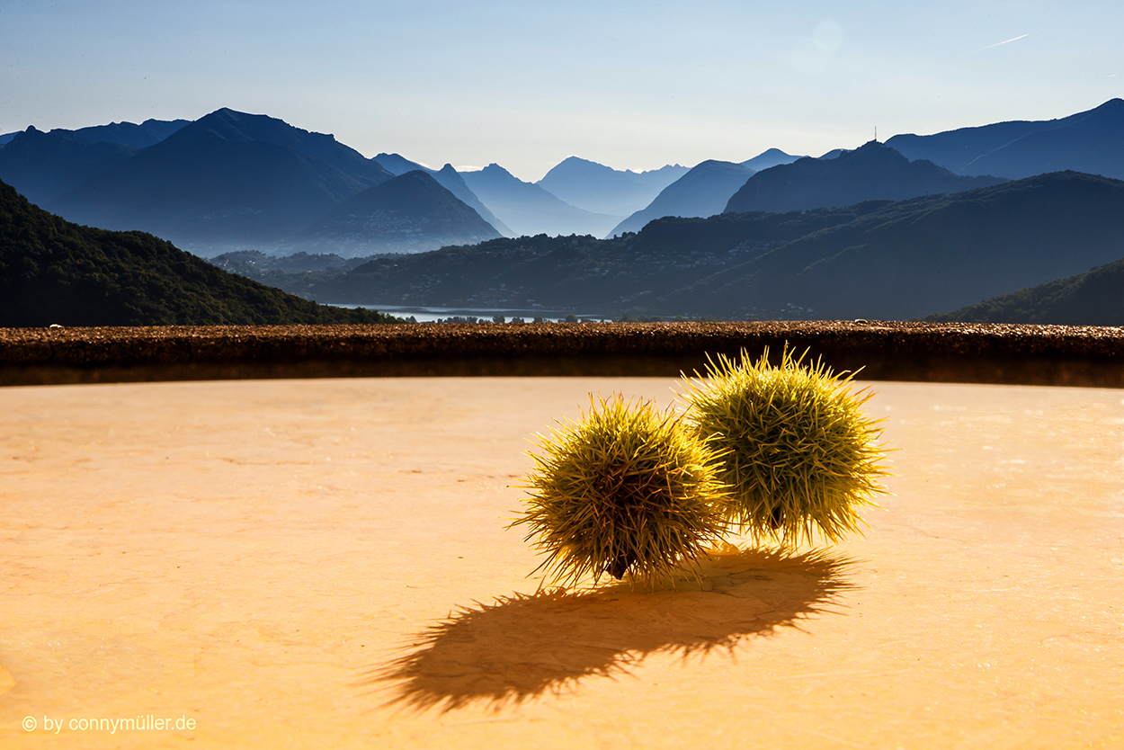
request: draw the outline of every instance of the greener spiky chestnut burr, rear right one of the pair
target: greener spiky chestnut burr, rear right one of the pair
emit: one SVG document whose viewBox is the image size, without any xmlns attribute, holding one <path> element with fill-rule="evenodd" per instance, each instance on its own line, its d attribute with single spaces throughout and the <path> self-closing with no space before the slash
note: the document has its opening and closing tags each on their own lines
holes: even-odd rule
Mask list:
<svg viewBox="0 0 1124 750">
<path fill-rule="evenodd" d="M 725 452 L 718 478 L 729 486 L 729 521 L 754 541 L 785 545 L 813 532 L 837 542 L 859 532 L 858 509 L 885 493 L 878 478 L 885 451 L 878 422 L 852 392 L 853 376 L 833 374 L 823 361 L 805 364 L 786 347 L 780 367 L 769 350 L 756 362 L 707 358 L 706 379 L 686 380 L 688 418 Z"/>
</svg>

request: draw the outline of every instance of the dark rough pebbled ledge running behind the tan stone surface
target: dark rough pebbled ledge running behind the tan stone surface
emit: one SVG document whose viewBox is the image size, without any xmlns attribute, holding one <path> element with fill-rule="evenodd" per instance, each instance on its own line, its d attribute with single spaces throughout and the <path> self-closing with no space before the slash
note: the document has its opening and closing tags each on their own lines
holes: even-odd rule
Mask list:
<svg viewBox="0 0 1124 750">
<path fill-rule="evenodd" d="M 677 376 L 786 344 L 869 380 L 1124 388 L 1124 327 L 892 322 L 0 328 L 0 385 Z"/>
</svg>

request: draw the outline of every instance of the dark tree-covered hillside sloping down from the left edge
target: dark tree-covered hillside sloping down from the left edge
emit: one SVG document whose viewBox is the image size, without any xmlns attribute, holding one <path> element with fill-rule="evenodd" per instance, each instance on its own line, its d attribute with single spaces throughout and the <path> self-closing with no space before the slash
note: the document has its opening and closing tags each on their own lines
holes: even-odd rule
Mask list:
<svg viewBox="0 0 1124 750">
<path fill-rule="evenodd" d="M 0 326 L 387 320 L 227 273 L 149 234 L 71 224 L 0 182 Z"/>
</svg>

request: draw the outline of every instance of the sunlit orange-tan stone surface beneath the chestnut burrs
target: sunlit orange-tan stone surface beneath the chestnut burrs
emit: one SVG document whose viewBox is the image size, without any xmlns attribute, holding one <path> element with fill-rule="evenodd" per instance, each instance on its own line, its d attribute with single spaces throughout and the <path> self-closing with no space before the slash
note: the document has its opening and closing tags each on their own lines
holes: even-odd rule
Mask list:
<svg viewBox="0 0 1124 750">
<path fill-rule="evenodd" d="M 674 385 L 0 390 L 0 747 L 1124 747 L 1124 391 L 876 383 L 865 539 L 518 596 L 525 439 Z"/>
</svg>

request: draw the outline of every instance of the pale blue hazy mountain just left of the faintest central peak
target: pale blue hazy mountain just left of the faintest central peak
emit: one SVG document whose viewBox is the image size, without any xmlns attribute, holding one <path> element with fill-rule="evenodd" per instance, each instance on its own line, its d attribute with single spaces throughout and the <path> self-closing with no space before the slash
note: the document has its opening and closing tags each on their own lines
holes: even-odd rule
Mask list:
<svg viewBox="0 0 1124 750">
<path fill-rule="evenodd" d="M 571 206 L 537 184 L 517 179 L 499 164 L 461 177 L 513 234 L 601 235 L 619 220 Z"/>
</svg>

